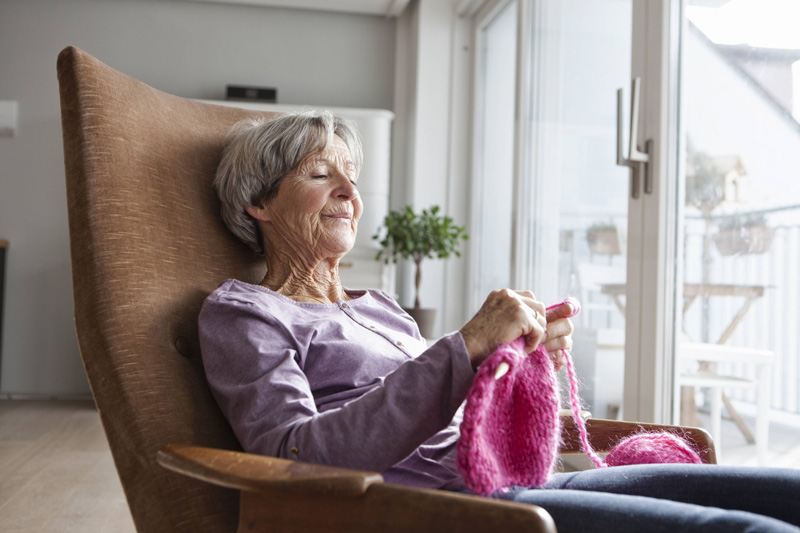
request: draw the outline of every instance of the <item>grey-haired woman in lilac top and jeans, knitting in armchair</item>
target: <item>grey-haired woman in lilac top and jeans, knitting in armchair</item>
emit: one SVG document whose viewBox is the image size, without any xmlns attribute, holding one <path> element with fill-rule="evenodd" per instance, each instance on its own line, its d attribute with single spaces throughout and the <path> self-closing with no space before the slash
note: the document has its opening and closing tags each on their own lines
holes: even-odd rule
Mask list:
<svg viewBox="0 0 800 533">
<path fill-rule="evenodd" d="M 226 280 L 206 300 L 199 319 L 206 375 L 246 451 L 464 490 L 455 464 L 459 407 L 475 369 L 520 336 L 529 352 L 543 343 L 560 367 L 561 349 L 572 344 L 565 318 L 572 309 L 547 312 L 531 292 L 496 291 L 459 331 L 428 348 L 389 295 L 339 281 L 363 208 L 361 161 L 353 125 L 327 112 L 234 128 L 215 181 L 222 217 L 263 254 L 266 274 L 258 285 Z M 688 472 L 696 481 L 686 482 Z M 793 531 L 753 513 L 798 523 L 796 506 L 780 504 L 781 490 L 797 489 L 790 471 L 649 465 L 559 474 L 546 487 L 502 497 L 542 505 L 561 531 L 621 531 L 622 524 Z M 758 497 L 730 497 L 737 490 Z"/>
</svg>

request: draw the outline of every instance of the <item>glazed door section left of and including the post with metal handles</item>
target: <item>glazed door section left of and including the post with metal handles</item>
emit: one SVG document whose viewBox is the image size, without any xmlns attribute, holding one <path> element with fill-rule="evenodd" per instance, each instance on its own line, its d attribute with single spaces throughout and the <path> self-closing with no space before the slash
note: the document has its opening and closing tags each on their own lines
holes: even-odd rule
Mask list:
<svg viewBox="0 0 800 533">
<path fill-rule="evenodd" d="M 581 300 L 573 355 L 598 417 L 669 422 L 675 405 L 679 8 L 498 0 L 475 16 L 473 311 L 503 286 Z M 617 164 L 618 134 L 621 159 L 650 146 L 647 172 Z"/>
</svg>

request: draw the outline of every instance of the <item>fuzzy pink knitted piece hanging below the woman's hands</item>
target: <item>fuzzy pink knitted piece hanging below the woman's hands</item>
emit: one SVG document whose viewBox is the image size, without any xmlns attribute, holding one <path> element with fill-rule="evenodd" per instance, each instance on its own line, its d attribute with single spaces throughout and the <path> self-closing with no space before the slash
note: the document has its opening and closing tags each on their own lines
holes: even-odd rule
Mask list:
<svg viewBox="0 0 800 533">
<path fill-rule="evenodd" d="M 526 356 L 524 343 L 520 337 L 495 350 L 467 396 L 457 461 L 476 494 L 536 487 L 553 472 L 560 440 L 556 373 L 543 346 Z M 510 369 L 496 380 L 501 362 Z"/>
</svg>

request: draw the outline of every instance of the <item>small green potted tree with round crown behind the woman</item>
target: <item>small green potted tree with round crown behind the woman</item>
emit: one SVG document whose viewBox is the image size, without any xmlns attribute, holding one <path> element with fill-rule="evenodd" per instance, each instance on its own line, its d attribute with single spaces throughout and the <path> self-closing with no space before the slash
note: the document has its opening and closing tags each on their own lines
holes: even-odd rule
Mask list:
<svg viewBox="0 0 800 533">
<path fill-rule="evenodd" d="M 411 259 L 416 265 L 414 276 L 414 307 L 406 309 L 417 322 L 423 337 L 433 336 L 433 322 L 436 316 L 435 309 L 423 309 L 419 301 L 419 286 L 422 280 L 420 265 L 422 260 L 447 259 L 451 255 L 457 257 L 461 253 L 457 250 L 460 241 L 467 239 L 463 226 L 453 224 L 453 219 L 448 216 L 439 216 L 439 206 L 423 209 L 417 215 L 411 206 L 406 206 L 400 211 L 391 211 L 383 221 L 383 226 L 378 228 L 378 233 L 372 236 L 381 245 L 381 250 L 375 257 L 384 263 L 392 261 L 397 263 L 399 258 Z"/>
</svg>

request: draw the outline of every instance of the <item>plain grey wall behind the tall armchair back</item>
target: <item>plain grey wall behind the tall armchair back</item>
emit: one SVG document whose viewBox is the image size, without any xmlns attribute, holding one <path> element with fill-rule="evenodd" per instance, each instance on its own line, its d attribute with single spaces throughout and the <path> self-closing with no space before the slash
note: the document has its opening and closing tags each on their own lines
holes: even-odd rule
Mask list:
<svg viewBox="0 0 800 533">
<path fill-rule="evenodd" d="M 85 394 L 74 333 L 56 56 L 76 45 L 157 89 L 222 98 L 278 87 L 281 103 L 391 109 L 395 21 L 168 0 L 2 0 L 0 238 L 8 251 L 0 392 Z"/>
</svg>

